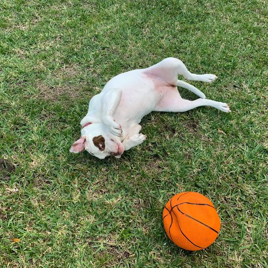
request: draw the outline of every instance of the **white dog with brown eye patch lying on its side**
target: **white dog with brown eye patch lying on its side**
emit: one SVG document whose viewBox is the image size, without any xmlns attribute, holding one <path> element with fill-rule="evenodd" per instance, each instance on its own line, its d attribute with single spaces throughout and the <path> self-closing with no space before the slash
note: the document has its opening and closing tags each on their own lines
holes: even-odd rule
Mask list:
<svg viewBox="0 0 268 268">
<path fill-rule="evenodd" d="M 209 83 L 217 78 L 214 74 L 191 73 L 175 58 L 115 76 L 90 100 L 88 113 L 80 123 L 81 137 L 72 144 L 70 152 L 87 150 L 100 159 L 109 155 L 120 158 L 124 151 L 146 139 L 146 135 L 139 133 L 139 123 L 151 111 L 185 112 L 207 105 L 230 112 L 226 103 L 206 100 L 196 87 L 178 80 L 178 74 L 189 80 Z M 201 99 L 182 99 L 177 86 L 192 91 Z"/>
</svg>

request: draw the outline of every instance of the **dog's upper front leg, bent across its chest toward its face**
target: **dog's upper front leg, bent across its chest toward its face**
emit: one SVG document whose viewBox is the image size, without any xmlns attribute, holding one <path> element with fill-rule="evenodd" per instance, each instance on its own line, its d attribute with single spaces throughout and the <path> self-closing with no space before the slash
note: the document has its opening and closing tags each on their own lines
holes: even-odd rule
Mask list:
<svg viewBox="0 0 268 268">
<path fill-rule="evenodd" d="M 119 137 L 122 137 L 122 127 L 115 122 L 113 114 L 119 105 L 121 96 L 121 89 L 110 89 L 101 98 L 101 120 L 112 134 Z"/>
</svg>

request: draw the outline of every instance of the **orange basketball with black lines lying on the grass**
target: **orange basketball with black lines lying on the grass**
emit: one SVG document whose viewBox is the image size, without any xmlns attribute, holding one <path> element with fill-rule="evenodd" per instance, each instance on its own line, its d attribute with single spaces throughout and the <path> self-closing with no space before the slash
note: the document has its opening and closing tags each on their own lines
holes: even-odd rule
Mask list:
<svg viewBox="0 0 268 268">
<path fill-rule="evenodd" d="M 195 192 L 173 196 L 164 208 L 163 222 L 169 239 L 192 251 L 211 245 L 221 228 L 221 220 L 211 201 Z"/>
</svg>

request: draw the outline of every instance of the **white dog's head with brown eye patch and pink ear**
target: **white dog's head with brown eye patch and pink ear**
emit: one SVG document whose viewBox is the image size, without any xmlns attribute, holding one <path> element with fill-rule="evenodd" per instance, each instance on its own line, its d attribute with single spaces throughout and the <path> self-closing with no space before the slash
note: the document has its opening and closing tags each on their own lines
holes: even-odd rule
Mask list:
<svg viewBox="0 0 268 268">
<path fill-rule="evenodd" d="M 71 153 L 79 153 L 86 150 L 99 159 L 107 156 L 120 158 L 124 152 L 124 146 L 117 136 L 110 134 L 103 124 L 92 124 L 82 129 L 81 137 L 75 141 Z"/>
</svg>

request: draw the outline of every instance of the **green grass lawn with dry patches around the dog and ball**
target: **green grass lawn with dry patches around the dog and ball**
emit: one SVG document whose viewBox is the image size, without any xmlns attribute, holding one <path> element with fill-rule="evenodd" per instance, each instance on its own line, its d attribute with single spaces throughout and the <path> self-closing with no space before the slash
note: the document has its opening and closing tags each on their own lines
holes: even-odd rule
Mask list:
<svg viewBox="0 0 268 268">
<path fill-rule="evenodd" d="M 0 267 L 268 267 L 267 5 L 1 0 Z M 215 73 L 191 83 L 232 113 L 153 112 L 147 140 L 119 160 L 68 152 L 110 78 L 171 56 Z M 182 191 L 220 215 L 205 250 L 165 234 L 163 208 Z"/>
</svg>

